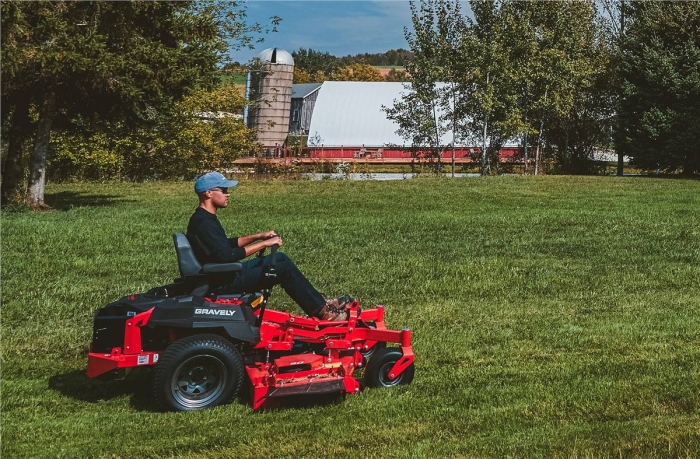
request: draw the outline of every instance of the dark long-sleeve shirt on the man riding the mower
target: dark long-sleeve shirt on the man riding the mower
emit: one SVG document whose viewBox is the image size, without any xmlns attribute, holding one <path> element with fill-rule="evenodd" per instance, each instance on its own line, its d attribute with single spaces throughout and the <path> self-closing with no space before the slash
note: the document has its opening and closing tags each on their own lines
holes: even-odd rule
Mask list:
<svg viewBox="0 0 700 459">
<path fill-rule="evenodd" d="M 226 237 L 216 215 L 197 207 L 187 225 L 187 239 L 200 263 L 231 263 L 245 258 L 245 248 L 238 238 Z"/>
</svg>

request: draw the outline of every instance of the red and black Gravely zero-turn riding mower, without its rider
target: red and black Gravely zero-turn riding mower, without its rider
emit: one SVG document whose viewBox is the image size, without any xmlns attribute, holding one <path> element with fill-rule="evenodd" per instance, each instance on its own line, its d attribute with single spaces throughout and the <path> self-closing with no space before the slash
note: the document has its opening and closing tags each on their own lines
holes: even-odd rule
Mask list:
<svg viewBox="0 0 700 459">
<path fill-rule="evenodd" d="M 388 330 L 384 307 L 347 306 L 347 321 L 266 309 L 270 291 L 213 295 L 210 282 L 240 263 L 201 265 L 184 234 L 173 236 L 179 279 L 126 296 L 94 318 L 87 374 L 119 379 L 153 366 L 153 396 L 165 410 L 230 403 L 246 382 L 253 409 L 279 397 L 355 393 L 413 380 L 411 331 Z M 266 273 L 275 276 L 274 255 Z M 398 347 L 387 347 L 396 343 Z M 364 382 L 357 374 L 364 368 Z"/>
</svg>

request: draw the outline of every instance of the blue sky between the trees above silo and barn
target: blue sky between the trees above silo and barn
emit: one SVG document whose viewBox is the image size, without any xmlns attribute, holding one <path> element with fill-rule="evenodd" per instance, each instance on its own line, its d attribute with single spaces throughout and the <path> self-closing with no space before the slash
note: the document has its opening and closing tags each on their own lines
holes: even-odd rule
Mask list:
<svg viewBox="0 0 700 459">
<path fill-rule="evenodd" d="M 248 62 L 266 48 L 290 53 L 299 48 L 328 52 L 336 57 L 408 49 L 404 27 L 411 27 L 407 0 L 248 0 L 247 22 L 269 24 L 270 16 L 282 23 L 276 33 L 263 35 L 255 50 L 232 51 L 234 61 Z"/>
</svg>

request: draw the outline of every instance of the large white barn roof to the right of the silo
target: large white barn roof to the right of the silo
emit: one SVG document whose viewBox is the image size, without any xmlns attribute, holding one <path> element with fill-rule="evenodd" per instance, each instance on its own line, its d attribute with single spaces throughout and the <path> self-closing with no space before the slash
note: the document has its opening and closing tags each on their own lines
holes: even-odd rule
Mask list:
<svg viewBox="0 0 700 459">
<path fill-rule="evenodd" d="M 326 81 L 316 100 L 309 137 L 327 147 L 382 147 L 409 145 L 396 131 L 399 126 L 387 119 L 382 106 L 392 107 L 394 100 L 410 91 L 406 83 Z M 452 133 L 442 139 L 451 142 Z"/>
</svg>

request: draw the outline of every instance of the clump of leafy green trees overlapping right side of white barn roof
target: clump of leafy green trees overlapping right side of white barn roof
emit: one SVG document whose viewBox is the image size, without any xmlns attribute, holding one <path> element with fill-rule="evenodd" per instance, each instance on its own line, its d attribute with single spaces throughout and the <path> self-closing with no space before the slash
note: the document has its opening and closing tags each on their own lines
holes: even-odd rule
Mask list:
<svg viewBox="0 0 700 459">
<path fill-rule="evenodd" d="M 411 3 L 413 30 L 406 39 L 415 57 L 406 66 L 409 80 L 420 103 L 441 107 L 443 115 L 432 121 L 412 116 L 414 108 L 430 110 L 408 95 L 390 117 L 407 139 L 415 130 L 439 138 L 451 129 L 457 143 L 480 145 L 487 152 L 483 172 L 488 152 L 518 140 L 585 167 L 594 148 L 609 144 L 612 111 L 609 49 L 592 4 L 470 5 L 472 16 L 466 17 L 459 2 Z M 445 85 L 437 89 L 437 82 Z"/>
</svg>

